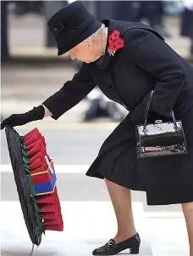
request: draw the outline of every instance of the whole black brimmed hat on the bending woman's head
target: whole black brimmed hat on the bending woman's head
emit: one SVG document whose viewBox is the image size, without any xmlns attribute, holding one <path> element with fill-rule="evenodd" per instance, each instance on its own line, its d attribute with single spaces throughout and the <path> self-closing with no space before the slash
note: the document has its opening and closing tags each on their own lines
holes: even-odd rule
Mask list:
<svg viewBox="0 0 193 256">
<path fill-rule="evenodd" d="M 102 23 L 96 21 L 82 1 L 75 1 L 53 14 L 47 25 L 56 40 L 58 55 L 62 55 L 94 34 Z"/>
</svg>

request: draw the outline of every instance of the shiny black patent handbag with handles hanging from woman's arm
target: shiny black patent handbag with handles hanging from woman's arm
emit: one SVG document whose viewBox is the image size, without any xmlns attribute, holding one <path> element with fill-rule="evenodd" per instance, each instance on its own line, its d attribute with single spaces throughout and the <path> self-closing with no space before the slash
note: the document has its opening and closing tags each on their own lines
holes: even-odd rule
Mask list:
<svg viewBox="0 0 193 256">
<path fill-rule="evenodd" d="M 152 103 L 153 91 L 146 104 L 144 124 L 136 126 L 137 157 L 168 156 L 187 153 L 185 133 L 181 121 L 176 121 L 171 112 L 173 122 L 157 120 L 147 123 Z"/>
</svg>

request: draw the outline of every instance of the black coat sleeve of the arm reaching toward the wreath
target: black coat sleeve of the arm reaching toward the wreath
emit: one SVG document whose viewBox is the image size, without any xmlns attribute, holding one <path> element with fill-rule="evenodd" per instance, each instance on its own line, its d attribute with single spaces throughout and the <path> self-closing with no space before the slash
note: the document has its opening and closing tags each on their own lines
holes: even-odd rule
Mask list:
<svg viewBox="0 0 193 256">
<path fill-rule="evenodd" d="M 88 65 L 83 64 L 80 71 L 74 75 L 71 81 L 65 82 L 57 93 L 42 103 L 52 112 L 53 119 L 57 120 L 58 117 L 61 117 L 63 113 L 77 105 L 96 87 L 88 68 Z"/>
</svg>

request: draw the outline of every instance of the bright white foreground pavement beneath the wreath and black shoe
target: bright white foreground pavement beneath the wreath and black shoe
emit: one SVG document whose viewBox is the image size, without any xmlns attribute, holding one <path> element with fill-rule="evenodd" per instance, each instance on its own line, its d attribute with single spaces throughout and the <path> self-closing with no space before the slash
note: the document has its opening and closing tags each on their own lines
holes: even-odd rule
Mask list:
<svg viewBox="0 0 193 256">
<path fill-rule="evenodd" d="M 19 203 L 1 202 L 1 207 L 6 209 L 1 218 L 1 255 L 30 255 L 31 243 Z M 116 222 L 110 202 L 62 202 L 62 209 L 64 231 L 47 232 L 35 256 L 89 256 L 95 247 L 115 234 Z M 189 256 L 182 219 L 146 219 L 141 204 L 134 203 L 133 209 L 136 228 L 141 234 L 139 255 Z"/>
</svg>

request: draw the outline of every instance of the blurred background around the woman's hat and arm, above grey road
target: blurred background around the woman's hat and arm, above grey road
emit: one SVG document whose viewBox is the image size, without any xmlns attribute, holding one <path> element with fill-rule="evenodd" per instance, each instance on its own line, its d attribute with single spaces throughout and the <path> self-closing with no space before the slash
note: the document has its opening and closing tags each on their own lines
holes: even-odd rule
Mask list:
<svg viewBox="0 0 193 256">
<path fill-rule="evenodd" d="M 62 87 L 79 68 L 69 54 L 57 56 L 47 20 L 73 1 L 2 1 L 1 63 L 2 117 L 39 104 Z M 85 1 L 97 20 L 141 21 L 159 31 L 186 60 L 193 60 L 192 0 L 185 1 Z M 11 74 L 11 76 L 10 76 Z M 31 87 L 36 87 L 29 91 Z M 8 106 L 8 107 L 7 107 Z M 69 122 L 119 122 L 121 107 L 96 88 L 75 111 L 62 117 Z M 108 119 L 107 119 L 108 118 Z"/>
</svg>

